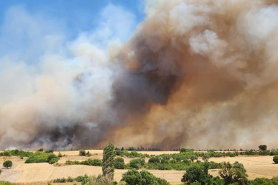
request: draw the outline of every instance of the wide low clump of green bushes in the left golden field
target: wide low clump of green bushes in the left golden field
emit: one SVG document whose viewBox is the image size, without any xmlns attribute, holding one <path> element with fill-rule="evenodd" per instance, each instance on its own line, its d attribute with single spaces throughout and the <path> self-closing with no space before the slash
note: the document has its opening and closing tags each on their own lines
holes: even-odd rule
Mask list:
<svg viewBox="0 0 278 185">
<path fill-rule="evenodd" d="M 54 153 L 45 153 L 37 151 L 36 153 L 31 153 L 25 163 L 41 163 L 41 162 L 49 162 L 49 164 L 53 164 L 58 162 L 60 158 L 55 156 Z"/>
</svg>

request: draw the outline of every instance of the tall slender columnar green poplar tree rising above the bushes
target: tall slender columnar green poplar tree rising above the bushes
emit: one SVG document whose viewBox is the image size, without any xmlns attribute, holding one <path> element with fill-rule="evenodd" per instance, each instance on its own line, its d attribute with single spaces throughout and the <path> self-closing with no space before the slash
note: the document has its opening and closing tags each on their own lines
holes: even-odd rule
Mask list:
<svg viewBox="0 0 278 185">
<path fill-rule="evenodd" d="M 104 177 L 114 177 L 114 158 L 116 156 L 116 151 L 113 143 L 109 143 L 103 149 L 103 160 L 102 160 L 102 174 Z"/>
</svg>

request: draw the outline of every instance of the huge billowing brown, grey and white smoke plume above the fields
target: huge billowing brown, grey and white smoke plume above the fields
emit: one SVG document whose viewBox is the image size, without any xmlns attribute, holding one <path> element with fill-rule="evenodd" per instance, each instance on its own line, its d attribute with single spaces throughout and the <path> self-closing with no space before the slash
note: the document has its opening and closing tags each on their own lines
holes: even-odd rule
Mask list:
<svg viewBox="0 0 278 185">
<path fill-rule="evenodd" d="M 59 22 L 8 10 L 0 41 L 19 44 L 0 58 L 0 149 L 277 148 L 278 1 L 150 0 L 145 12 L 136 27 L 108 5 L 68 41 Z"/>
</svg>

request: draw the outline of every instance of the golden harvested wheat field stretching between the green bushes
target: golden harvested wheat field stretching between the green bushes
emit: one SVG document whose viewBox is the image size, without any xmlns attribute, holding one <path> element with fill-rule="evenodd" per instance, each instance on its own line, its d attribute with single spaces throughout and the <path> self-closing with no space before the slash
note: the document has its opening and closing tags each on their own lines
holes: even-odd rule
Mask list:
<svg viewBox="0 0 278 185">
<path fill-rule="evenodd" d="M 101 159 L 103 157 L 102 150 L 89 150 L 92 156 L 79 156 L 79 151 L 60 151 L 63 156 L 58 164 L 64 164 L 66 160 L 88 160 Z M 177 153 L 177 151 L 142 151 L 142 153 L 149 153 L 153 155 L 160 155 L 162 153 Z M 58 154 L 58 152 L 55 152 Z M 125 162 L 129 162 L 131 158 L 124 158 Z M 39 164 L 25 164 L 25 160 L 21 160 L 18 157 L 0 157 L 0 164 L 5 160 L 12 160 L 14 166 L 12 169 L 3 170 L 0 175 L 0 180 L 8 180 L 10 182 L 17 182 L 20 184 L 43 184 L 61 177 L 77 177 L 79 175 L 99 175 L 101 173 L 101 167 L 91 167 L 84 165 L 51 165 L 48 163 Z M 214 162 L 240 162 L 244 164 L 249 174 L 249 179 L 253 180 L 255 177 L 275 177 L 278 175 L 278 164 L 273 164 L 272 156 L 236 156 L 234 158 L 210 158 L 210 161 Z M 115 180 L 121 180 L 123 173 L 126 170 L 115 170 Z M 153 175 L 164 178 L 170 184 L 181 184 L 180 180 L 185 171 L 159 171 L 149 170 Z M 212 175 L 217 175 L 218 171 L 210 171 Z"/>
</svg>

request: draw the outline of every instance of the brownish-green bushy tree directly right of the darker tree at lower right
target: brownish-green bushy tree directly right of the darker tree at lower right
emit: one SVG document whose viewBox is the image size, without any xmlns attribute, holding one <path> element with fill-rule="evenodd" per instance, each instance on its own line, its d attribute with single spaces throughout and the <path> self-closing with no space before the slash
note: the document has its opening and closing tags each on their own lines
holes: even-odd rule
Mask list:
<svg viewBox="0 0 278 185">
<path fill-rule="evenodd" d="M 220 177 L 223 178 L 225 184 L 247 184 L 247 171 L 244 169 L 243 164 L 235 162 L 233 164 L 229 162 L 222 162 L 222 168 L 219 171 Z"/>
</svg>

